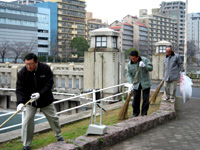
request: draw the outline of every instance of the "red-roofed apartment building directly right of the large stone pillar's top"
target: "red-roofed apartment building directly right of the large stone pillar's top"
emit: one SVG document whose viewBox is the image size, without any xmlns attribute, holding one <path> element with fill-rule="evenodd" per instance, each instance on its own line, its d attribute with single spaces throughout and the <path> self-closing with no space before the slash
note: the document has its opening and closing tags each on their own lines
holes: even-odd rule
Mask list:
<svg viewBox="0 0 200 150">
<path fill-rule="evenodd" d="M 109 28 L 120 33 L 118 45 L 122 52 L 133 48 L 133 25 L 116 20 Z"/>
</svg>

